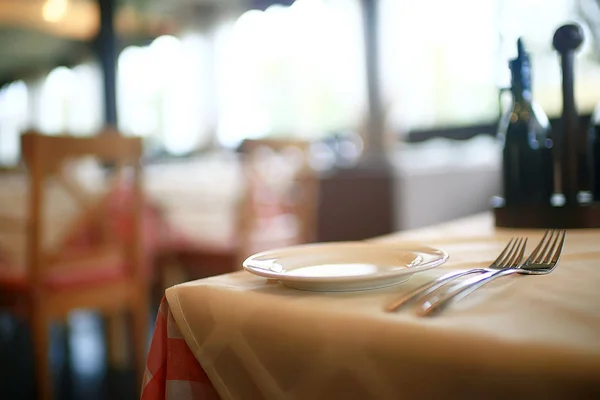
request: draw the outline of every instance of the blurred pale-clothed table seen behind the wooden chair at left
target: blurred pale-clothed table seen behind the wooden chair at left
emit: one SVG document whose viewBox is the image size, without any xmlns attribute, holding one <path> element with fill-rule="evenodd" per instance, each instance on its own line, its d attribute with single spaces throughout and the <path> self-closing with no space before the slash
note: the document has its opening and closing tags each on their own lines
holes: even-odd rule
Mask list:
<svg viewBox="0 0 600 400">
<path fill-rule="evenodd" d="M 186 172 L 194 171 L 193 174 Z M 111 224 L 116 236 L 128 230 L 122 210 L 130 192 L 107 188 L 105 171 L 94 159 L 72 163 L 68 175 L 92 202 L 111 204 Z M 230 242 L 235 229 L 235 207 L 240 196 L 240 172 L 236 163 L 207 159 L 185 164 L 154 165 L 144 169 L 144 253 L 148 268 L 152 259 L 171 248 L 201 243 L 221 246 Z M 216 182 L 222 182 L 215 185 Z M 109 190 L 110 189 L 110 190 Z M 94 240 L 94 227 L 77 224 L 85 215 L 59 183 L 46 188 L 44 241 L 48 248 L 76 251 Z M 0 174 L 0 275 L 22 272 L 26 256 L 28 177 L 24 168 Z M 2 226 L 6 228 L 6 226 Z M 149 273 L 151 271 L 149 270 Z"/>
</svg>

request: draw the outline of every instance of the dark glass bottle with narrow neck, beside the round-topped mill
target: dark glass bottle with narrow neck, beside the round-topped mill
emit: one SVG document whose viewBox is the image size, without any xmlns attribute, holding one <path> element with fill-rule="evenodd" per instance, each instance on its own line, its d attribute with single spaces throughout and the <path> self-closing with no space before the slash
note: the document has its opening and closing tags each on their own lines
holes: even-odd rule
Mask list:
<svg viewBox="0 0 600 400">
<path fill-rule="evenodd" d="M 507 206 L 550 204 L 554 192 L 551 127 L 532 99 L 531 64 L 522 39 L 517 49 L 517 58 L 509 63 L 512 107 L 498 127 L 504 201 Z"/>
</svg>

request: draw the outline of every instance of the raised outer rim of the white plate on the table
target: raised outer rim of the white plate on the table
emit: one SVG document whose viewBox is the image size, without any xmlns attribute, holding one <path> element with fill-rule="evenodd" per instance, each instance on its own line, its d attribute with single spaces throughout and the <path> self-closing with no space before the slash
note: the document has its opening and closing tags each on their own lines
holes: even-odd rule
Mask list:
<svg viewBox="0 0 600 400">
<path fill-rule="evenodd" d="M 437 253 L 437 254 L 439 254 L 439 257 L 437 259 L 418 264 L 415 267 L 410 267 L 410 268 L 405 268 L 405 269 L 390 270 L 388 272 L 381 272 L 381 273 L 371 274 L 371 275 L 347 275 L 347 276 L 333 276 L 333 277 L 332 276 L 319 277 L 319 276 L 286 275 L 285 273 L 281 273 L 281 272 L 277 272 L 277 271 L 270 271 L 268 269 L 260 269 L 258 267 L 248 266 L 248 262 L 250 262 L 251 260 L 261 257 L 261 256 L 264 256 L 264 255 L 268 255 L 269 253 L 280 252 L 280 251 L 285 251 L 285 250 L 289 250 L 289 249 L 301 249 L 302 247 L 321 247 L 321 246 L 327 247 L 327 246 L 336 246 L 336 245 L 359 245 L 359 246 L 369 246 L 369 247 L 375 246 L 375 247 L 385 248 L 388 250 L 407 251 L 407 252 L 412 252 L 412 253 L 419 253 L 419 252 L 420 253 L 428 253 L 428 254 Z M 390 243 L 369 243 L 369 242 L 359 242 L 359 241 L 343 241 L 343 242 L 325 242 L 325 243 L 306 243 L 306 244 L 300 244 L 300 245 L 295 245 L 295 246 L 279 247 L 279 248 L 273 248 L 270 250 L 261 251 L 261 252 L 255 253 L 255 254 L 247 257 L 244 260 L 244 262 L 242 263 L 242 267 L 244 270 L 246 270 L 247 272 L 249 272 L 253 275 L 261 276 L 261 277 L 268 278 L 268 279 L 276 279 L 279 281 L 290 281 L 290 282 L 309 282 L 309 283 L 315 283 L 315 284 L 318 284 L 318 283 L 327 284 L 327 283 L 344 283 L 344 282 L 364 282 L 364 281 L 413 275 L 417 272 L 422 272 L 422 271 L 426 271 L 429 269 L 439 267 L 440 265 L 442 265 L 446 261 L 448 261 L 449 258 L 450 258 L 450 255 L 448 254 L 447 251 L 437 248 L 437 247 L 429 246 L 429 245 L 412 244 L 412 245 L 410 245 L 410 247 L 406 247 L 404 245 L 394 245 L 394 244 L 390 244 Z"/>
</svg>

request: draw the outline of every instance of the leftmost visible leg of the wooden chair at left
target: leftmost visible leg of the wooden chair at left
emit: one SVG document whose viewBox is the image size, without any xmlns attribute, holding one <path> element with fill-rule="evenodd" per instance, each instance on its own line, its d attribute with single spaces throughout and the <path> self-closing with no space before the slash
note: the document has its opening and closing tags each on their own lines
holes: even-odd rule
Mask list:
<svg viewBox="0 0 600 400">
<path fill-rule="evenodd" d="M 30 321 L 38 399 L 52 400 L 53 388 L 52 375 L 50 373 L 50 338 L 48 334 L 48 324 L 50 321 L 43 307 L 39 305 L 34 305 Z"/>
</svg>

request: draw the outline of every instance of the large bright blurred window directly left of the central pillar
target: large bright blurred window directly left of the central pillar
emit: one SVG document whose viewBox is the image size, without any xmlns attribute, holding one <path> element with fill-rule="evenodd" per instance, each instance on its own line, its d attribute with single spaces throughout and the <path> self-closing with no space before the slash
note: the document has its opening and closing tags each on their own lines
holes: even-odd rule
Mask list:
<svg viewBox="0 0 600 400">
<path fill-rule="evenodd" d="M 364 111 L 357 1 L 297 0 L 251 10 L 217 34 L 218 139 L 316 139 L 357 126 Z"/>
</svg>

